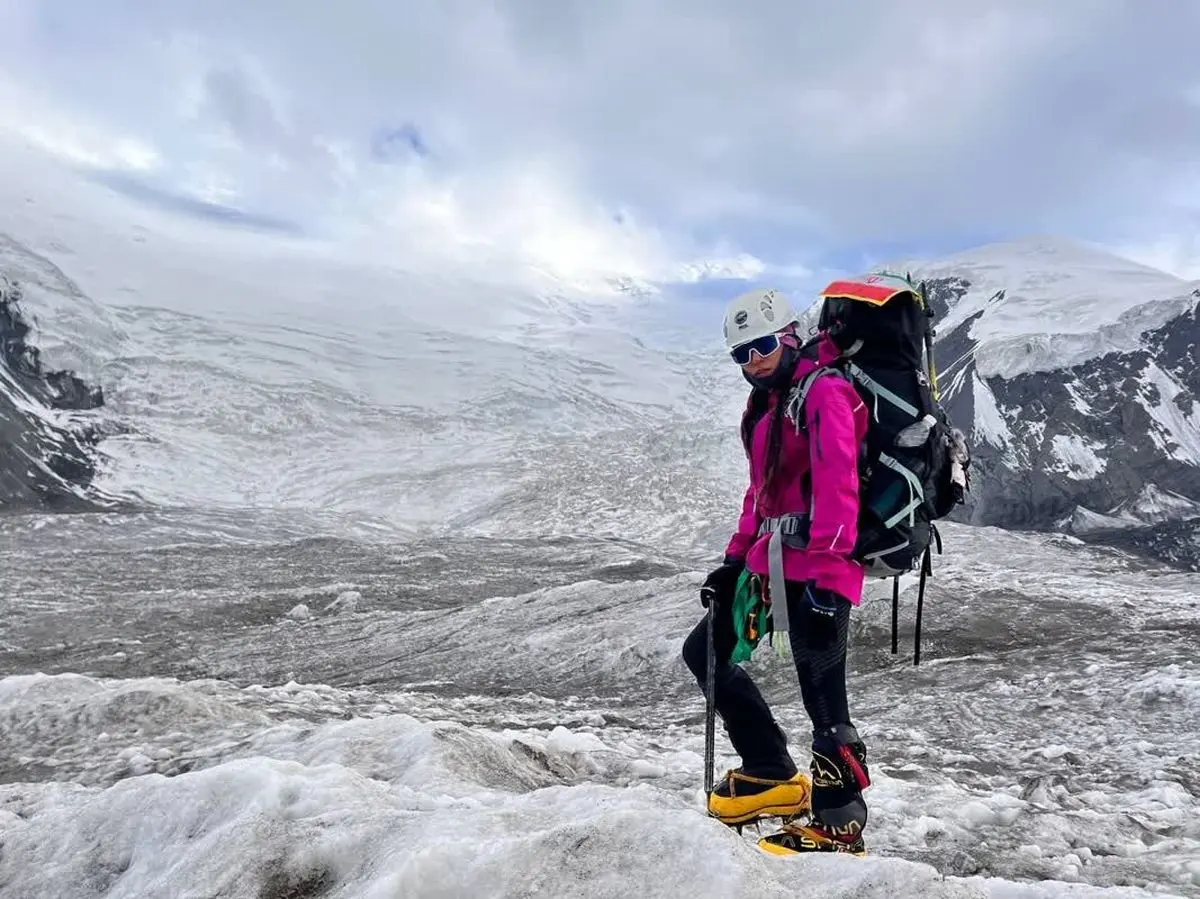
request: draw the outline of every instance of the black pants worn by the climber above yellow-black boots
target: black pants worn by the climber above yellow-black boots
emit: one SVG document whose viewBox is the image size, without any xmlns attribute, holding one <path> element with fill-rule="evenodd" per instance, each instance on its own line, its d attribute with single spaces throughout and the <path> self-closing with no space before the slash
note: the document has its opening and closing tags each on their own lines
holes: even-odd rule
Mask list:
<svg viewBox="0 0 1200 899">
<path fill-rule="evenodd" d="M 787 753 L 787 738 L 775 724 L 774 715 L 758 691 L 754 679 L 730 657 L 737 645 L 733 630 L 732 598 L 721 597 L 713 621 L 713 643 L 716 651 L 715 700 L 716 713 L 733 750 L 742 759 L 746 774 L 764 778 L 790 778 L 797 768 Z M 836 725 L 850 725 L 846 699 L 846 643 L 850 634 L 850 603 L 838 601 L 835 635 L 823 646 L 810 645 L 805 627 L 808 613 L 804 585 L 788 582 L 787 612 L 788 641 L 800 682 L 800 697 L 812 721 L 812 730 L 827 731 Z M 683 643 L 683 658 L 704 689 L 708 661 L 708 622 L 701 619 Z M 776 635 L 775 639 L 779 639 Z"/>
</svg>

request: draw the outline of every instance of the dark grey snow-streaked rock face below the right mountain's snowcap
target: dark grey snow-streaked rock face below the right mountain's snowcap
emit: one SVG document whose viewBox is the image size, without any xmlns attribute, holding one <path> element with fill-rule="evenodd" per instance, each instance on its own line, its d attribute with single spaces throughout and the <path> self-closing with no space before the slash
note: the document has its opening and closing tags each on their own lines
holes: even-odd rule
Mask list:
<svg viewBox="0 0 1200 899">
<path fill-rule="evenodd" d="M 928 286 L 935 320 L 973 289 L 970 274 Z M 989 302 L 1003 299 L 998 288 Z M 1010 376 L 979 371 L 972 330 L 983 311 L 940 331 L 943 403 L 973 451 L 972 495 L 954 517 L 1067 531 L 1200 570 L 1198 306 L 1200 288 L 1163 298 L 1148 319 L 1169 316 L 1164 324 L 1123 335 L 1134 348 Z"/>
</svg>

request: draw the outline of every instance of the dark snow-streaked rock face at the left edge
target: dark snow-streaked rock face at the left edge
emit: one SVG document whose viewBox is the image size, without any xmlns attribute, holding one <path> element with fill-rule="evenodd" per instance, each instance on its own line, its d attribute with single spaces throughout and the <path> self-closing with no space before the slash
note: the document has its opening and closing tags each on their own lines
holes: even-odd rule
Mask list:
<svg viewBox="0 0 1200 899">
<path fill-rule="evenodd" d="M 95 509 L 98 431 L 71 413 L 103 404 L 100 388 L 48 370 L 30 342 L 20 286 L 0 275 L 0 511 Z"/>
</svg>

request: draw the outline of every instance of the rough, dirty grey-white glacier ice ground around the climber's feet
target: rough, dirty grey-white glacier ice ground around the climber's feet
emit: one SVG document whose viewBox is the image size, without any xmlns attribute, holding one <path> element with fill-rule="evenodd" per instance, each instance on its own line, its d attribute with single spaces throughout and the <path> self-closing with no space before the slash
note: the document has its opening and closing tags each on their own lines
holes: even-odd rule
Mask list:
<svg viewBox="0 0 1200 899">
<path fill-rule="evenodd" d="M 520 547 L 486 540 L 397 558 L 43 521 L 40 537 L 4 523 L 6 568 L 24 573 L 6 589 L 6 657 L 44 672 L 0 681 L 0 886 L 14 895 L 1200 885 L 1189 575 L 950 528 L 919 667 L 888 651 L 887 595 L 857 616 L 871 858 L 776 859 L 698 810 L 702 701 L 678 643 L 701 573 L 684 559 L 583 541 L 520 573 L 500 562 Z M 95 567 L 53 585 L 43 567 L 65 545 Z M 790 673 L 769 649 L 751 665 L 803 751 Z M 719 767 L 734 763 L 718 747 Z M 298 883 L 310 892 L 287 892 Z"/>
</svg>

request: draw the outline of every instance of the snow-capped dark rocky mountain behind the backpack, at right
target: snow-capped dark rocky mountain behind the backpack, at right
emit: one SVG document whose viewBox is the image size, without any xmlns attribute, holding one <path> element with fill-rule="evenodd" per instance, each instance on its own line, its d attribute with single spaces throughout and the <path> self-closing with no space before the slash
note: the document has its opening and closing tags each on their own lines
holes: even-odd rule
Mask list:
<svg viewBox="0 0 1200 899">
<path fill-rule="evenodd" d="M 1200 286 L 1062 240 L 912 270 L 929 278 L 948 407 L 977 448 L 972 521 L 1135 547 L 1141 526 L 1196 514 Z M 1200 562 L 1189 545 L 1154 552 Z"/>
</svg>

